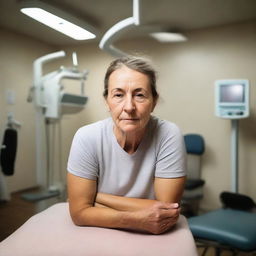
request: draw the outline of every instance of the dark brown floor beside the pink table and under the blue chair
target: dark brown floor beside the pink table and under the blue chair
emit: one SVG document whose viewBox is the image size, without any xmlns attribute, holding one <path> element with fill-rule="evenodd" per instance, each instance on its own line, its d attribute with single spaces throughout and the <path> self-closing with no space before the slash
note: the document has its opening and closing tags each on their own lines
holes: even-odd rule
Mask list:
<svg viewBox="0 0 256 256">
<path fill-rule="evenodd" d="M 64 201 L 63 198 L 50 198 L 41 200 L 38 203 L 25 201 L 21 198 L 24 193 L 36 193 L 36 189 L 26 190 L 22 192 L 13 193 L 11 201 L 0 202 L 0 241 L 11 235 L 18 229 L 26 220 L 34 214 L 48 208 L 49 206 Z M 198 253 L 201 255 L 202 248 L 198 248 Z M 249 256 L 252 254 L 239 253 L 237 256 Z M 214 249 L 210 248 L 205 256 L 215 256 Z M 232 256 L 228 251 L 223 251 L 221 256 Z"/>
</svg>

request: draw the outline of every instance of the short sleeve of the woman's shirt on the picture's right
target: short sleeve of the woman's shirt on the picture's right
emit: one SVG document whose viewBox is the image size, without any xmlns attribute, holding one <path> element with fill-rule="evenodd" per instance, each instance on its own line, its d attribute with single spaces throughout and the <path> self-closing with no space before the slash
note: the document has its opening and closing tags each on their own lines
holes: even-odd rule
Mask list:
<svg viewBox="0 0 256 256">
<path fill-rule="evenodd" d="M 180 129 L 163 122 L 158 128 L 155 177 L 178 178 L 186 175 L 186 152 Z"/>
</svg>

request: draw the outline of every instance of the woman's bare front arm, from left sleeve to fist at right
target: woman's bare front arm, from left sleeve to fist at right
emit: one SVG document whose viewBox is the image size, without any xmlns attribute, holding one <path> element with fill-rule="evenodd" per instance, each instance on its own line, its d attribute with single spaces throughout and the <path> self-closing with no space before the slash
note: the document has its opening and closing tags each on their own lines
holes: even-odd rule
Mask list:
<svg viewBox="0 0 256 256">
<path fill-rule="evenodd" d="M 69 209 L 73 222 L 80 226 L 131 229 L 161 234 L 169 229 L 169 218 L 176 209 L 157 202 L 138 211 L 119 211 L 95 207 L 97 182 L 68 173 Z"/>
</svg>

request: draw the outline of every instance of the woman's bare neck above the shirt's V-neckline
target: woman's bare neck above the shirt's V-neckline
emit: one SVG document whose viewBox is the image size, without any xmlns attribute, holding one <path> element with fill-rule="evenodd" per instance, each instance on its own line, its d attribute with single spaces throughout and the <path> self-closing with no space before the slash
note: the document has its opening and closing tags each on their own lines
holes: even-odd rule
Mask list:
<svg viewBox="0 0 256 256">
<path fill-rule="evenodd" d="M 126 151 L 128 154 L 133 154 L 136 152 L 142 138 L 145 133 L 145 129 L 136 133 L 123 133 L 117 127 L 114 127 L 114 134 L 116 136 L 118 144 Z"/>
</svg>

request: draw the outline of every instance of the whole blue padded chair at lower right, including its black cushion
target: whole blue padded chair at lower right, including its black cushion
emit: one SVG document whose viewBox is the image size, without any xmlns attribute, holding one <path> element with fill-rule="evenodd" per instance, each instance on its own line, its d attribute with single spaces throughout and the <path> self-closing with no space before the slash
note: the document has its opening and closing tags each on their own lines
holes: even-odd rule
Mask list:
<svg viewBox="0 0 256 256">
<path fill-rule="evenodd" d="M 225 200 L 229 200 L 229 203 L 223 202 L 225 208 L 188 219 L 197 245 L 204 247 L 202 255 L 206 255 L 210 247 L 215 248 L 217 256 L 223 250 L 230 250 L 233 255 L 241 251 L 256 253 L 256 213 L 252 208 L 255 204 L 246 196 L 224 193 L 222 202 L 225 196 Z"/>
</svg>

